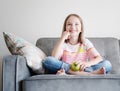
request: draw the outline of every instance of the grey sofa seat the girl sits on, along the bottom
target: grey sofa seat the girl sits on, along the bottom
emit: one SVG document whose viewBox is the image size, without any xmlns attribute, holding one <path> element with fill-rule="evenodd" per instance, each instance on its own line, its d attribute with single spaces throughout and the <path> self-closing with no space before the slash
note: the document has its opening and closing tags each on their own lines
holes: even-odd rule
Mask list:
<svg viewBox="0 0 120 91">
<path fill-rule="evenodd" d="M 23 81 L 24 91 L 119 91 L 120 75 L 39 75 Z M 113 88 L 114 87 L 114 88 Z"/>
</svg>

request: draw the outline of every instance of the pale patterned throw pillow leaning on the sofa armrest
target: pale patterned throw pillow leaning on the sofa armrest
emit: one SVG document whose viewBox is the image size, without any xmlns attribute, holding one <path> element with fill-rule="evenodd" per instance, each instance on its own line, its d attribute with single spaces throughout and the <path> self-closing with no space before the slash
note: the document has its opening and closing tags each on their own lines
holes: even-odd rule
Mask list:
<svg viewBox="0 0 120 91">
<path fill-rule="evenodd" d="M 3 32 L 3 36 L 11 54 L 24 56 L 27 60 L 27 65 L 34 72 L 37 74 L 44 73 L 42 61 L 46 55 L 41 49 L 11 33 Z"/>
</svg>

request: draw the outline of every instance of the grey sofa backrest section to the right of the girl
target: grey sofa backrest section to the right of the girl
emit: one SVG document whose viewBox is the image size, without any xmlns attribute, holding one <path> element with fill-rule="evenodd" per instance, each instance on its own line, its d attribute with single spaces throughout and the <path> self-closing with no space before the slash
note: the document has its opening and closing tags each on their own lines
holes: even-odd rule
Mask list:
<svg viewBox="0 0 120 91">
<path fill-rule="evenodd" d="M 89 38 L 104 59 L 112 64 L 113 74 L 120 74 L 119 40 L 116 38 Z"/>
</svg>

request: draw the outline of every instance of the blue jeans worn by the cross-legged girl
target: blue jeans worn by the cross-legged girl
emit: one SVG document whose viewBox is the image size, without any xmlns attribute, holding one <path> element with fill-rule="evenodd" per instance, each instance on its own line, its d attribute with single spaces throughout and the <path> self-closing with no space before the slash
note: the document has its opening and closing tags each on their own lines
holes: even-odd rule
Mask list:
<svg viewBox="0 0 120 91">
<path fill-rule="evenodd" d="M 48 71 L 48 73 L 55 74 L 60 69 L 64 69 L 65 72 L 68 73 L 71 65 L 52 56 L 49 56 L 43 61 L 43 66 Z M 111 63 L 108 60 L 103 60 L 96 65 L 85 68 L 84 71 L 92 72 L 94 70 L 100 69 L 101 67 L 105 67 L 106 73 L 109 73 L 112 69 Z"/>
</svg>

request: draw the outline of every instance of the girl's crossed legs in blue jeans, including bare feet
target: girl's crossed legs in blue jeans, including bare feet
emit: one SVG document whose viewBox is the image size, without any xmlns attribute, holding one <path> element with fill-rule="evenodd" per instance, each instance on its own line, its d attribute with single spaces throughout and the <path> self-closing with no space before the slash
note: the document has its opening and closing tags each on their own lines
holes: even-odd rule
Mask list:
<svg viewBox="0 0 120 91">
<path fill-rule="evenodd" d="M 73 75 L 107 74 L 112 68 L 111 63 L 104 60 L 96 65 L 85 68 L 84 71 L 72 71 L 69 64 L 64 63 L 54 57 L 47 57 L 43 62 L 43 65 L 49 73 L 58 75 L 64 75 L 66 73 Z"/>
</svg>

